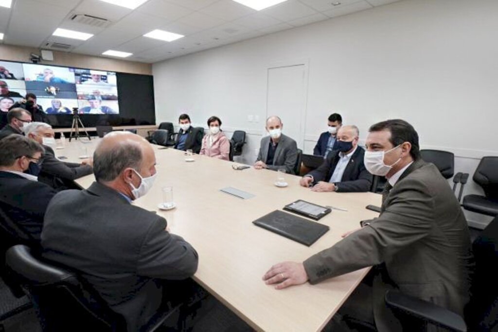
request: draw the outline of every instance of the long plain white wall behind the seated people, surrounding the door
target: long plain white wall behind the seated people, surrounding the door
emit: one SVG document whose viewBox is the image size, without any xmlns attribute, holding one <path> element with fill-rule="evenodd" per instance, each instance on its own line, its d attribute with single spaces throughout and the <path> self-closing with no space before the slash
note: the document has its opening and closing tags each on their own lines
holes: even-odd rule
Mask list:
<svg viewBox="0 0 498 332">
<path fill-rule="evenodd" d="M 454 152 L 456 170 L 472 177 L 482 156 L 498 155 L 497 13 L 496 0 L 404 0 L 157 63 L 156 118 L 176 122 L 185 111 L 205 126 L 217 115 L 228 132 L 249 133 L 240 160 L 252 163 L 264 131 L 267 69 L 304 60 L 305 152 L 334 110 L 358 125 L 362 140 L 371 124 L 403 118 L 422 148 Z M 470 182 L 464 194 L 482 193 Z"/>
</svg>

